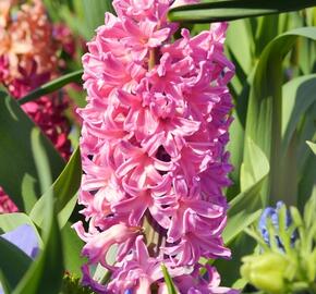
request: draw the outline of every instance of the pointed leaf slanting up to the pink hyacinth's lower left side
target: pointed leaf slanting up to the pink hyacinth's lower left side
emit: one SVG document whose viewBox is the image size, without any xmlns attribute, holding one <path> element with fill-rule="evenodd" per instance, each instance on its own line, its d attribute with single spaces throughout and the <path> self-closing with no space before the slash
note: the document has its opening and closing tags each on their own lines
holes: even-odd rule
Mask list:
<svg viewBox="0 0 316 294">
<path fill-rule="evenodd" d="M 81 155 L 80 149 L 76 148 L 62 173 L 34 205 L 29 213 L 32 220 L 38 226 L 42 228 L 46 218 L 42 213 L 42 209 L 47 198 L 52 194 L 56 199 L 56 211 L 59 213 L 59 224 L 62 228 L 69 220 L 76 204 L 76 192 L 81 184 Z"/>
</svg>

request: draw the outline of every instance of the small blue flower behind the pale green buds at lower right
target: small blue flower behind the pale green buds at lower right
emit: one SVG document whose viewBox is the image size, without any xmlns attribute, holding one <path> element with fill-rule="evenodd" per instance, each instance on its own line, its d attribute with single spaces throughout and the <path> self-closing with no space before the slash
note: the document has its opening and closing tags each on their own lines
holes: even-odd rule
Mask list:
<svg viewBox="0 0 316 294">
<path fill-rule="evenodd" d="M 280 237 L 278 236 L 279 234 L 279 213 L 280 213 L 280 210 L 281 208 L 285 206 L 284 203 L 282 201 L 278 201 L 277 203 L 277 207 L 274 208 L 274 207 L 267 207 L 260 219 L 259 219 L 259 224 L 258 224 L 258 228 L 259 228 L 259 231 L 265 240 L 265 242 L 270 246 L 270 235 L 269 235 L 269 232 L 268 232 L 268 219 L 271 220 L 271 223 L 275 228 L 275 232 L 276 232 L 276 241 L 277 241 L 277 244 L 279 246 L 279 248 L 281 250 L 284 250 L 284 246 L 280 240 Z M 285 228 L 288 229 L 292 223 L 292 218 L 291 218 L 291 213 L 290 211 L 287 209 L 287 219 L 285 219 Z M 292 236 L 291 236 L 291 243 L 292 245 L 294 244 L 295 242 L 295 234 L 293 233 Z"/>
</svg>

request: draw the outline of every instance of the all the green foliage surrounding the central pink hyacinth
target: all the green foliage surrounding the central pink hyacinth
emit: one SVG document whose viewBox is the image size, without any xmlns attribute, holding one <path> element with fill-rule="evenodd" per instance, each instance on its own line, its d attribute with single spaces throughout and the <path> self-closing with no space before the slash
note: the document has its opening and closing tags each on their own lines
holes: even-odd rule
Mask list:
<svg viewBox="0 0 316 294">
<path fill-rule="evenodd" d="M 51 19 L 66 22 L 82 39 L 90 38 L 93 29 L 101 24 L 104 12 L 111 10 L 109 0 L 45 2 Z M 235 64 L 236 75 L 230 85 L 235 109 L 229 150 L 235 169 L 231 174 L 233 185 L 227 191 L 230 210 L 224 241 L 236 257 L 215 262 L 227 286 L 243 289 L 248 282 L 250 279 L 241 279 L 239 268 L 242 256 L 253 253 L 255 244 L 247 242 L 244 230 L 255 223 L 265 206 L 279 199 L 299 208 L 292 207 L 291 211 L 301 238 L 295 248 L 289 249 L 289 255 L 295 256 L 300 269 L 306 269 L 302 275 L 309 279 L 315 274 L 309 264 L 312 255 L 315 259 L 315 248 L 311 250 L 311 240 L 314 237 L 315 242 L 315 210 L 311 207 L 315 206 L 316 195 L 316 157 L 313 154 L 316 140 L 316 9 L 296 11 L 313 5 L 316 5 L 314 0 L 214 0 L 178 8 L 169 14 L 170 20 L 183 21 L 184 26 L 191 25 L 198 33 L 207 26 L 197 23 L 293 11 L 230 23 L 226 49 Z M 74 61 L 73 69 L 78 70 L 78 64 Z M 81 74 L 81 70 L 74 71 L 42 85 L 20 103 L 77 82 Z M 81 100 L 81 95 L 77 94 L 74 101 Z M 4 292 L 89 293 L 82 289 L 73 291 L 84 264 L 80 258 L 82 242 L 71 229 L 81 218 L 75 206 L 82 174 L 80 152 L 75 151 L 65 164 L 21 106 L 3 91 L 0 93 L 0 185 L 21 211 L 10 217 L 0 216 L 1 232 L 29 223 L 41 246 L 39 257 L 32 261 L 0 238 L 0 280 Z M 77 137 L 74 147 L 76 144 Z M 246 232 L 264 244 L 257 232 Z M 268 258 L 274 259 L 274 256 Z M 250 260 L 245 262 L 256 259 Z M 12 269 L 10 265 L 20 266 Z M 62 282 L 64 270 L 73 275 L 65 277 Z M 168 272 L 163 270 L 163 273 L 169 281 Z M 172 281 L 168 283 L 173 293 Z"/>
</svg>

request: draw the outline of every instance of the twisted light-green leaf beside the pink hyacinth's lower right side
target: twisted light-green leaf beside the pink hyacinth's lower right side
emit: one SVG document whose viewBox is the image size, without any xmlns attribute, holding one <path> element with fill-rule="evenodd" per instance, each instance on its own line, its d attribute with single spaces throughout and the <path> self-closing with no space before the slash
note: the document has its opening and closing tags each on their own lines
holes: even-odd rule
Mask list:
<svg viewBox="0 0 316 294">
<path fill-rule="evenodd" d="M 240 279 L 239 268 L 242 256 L 250 254 L 255 243 L 244 234 L 244 230 L 260 216 L 260 191 L 269 173 L 269 162 L 265 154 L 252 142 L 248 145 L 251 169 L 243 170 L 241 177 L 243 191 L 229 203 L 228 223 L 223 241 L 232 250 L 232 260 L 216 260 L 215 266 L 222 273 L 223 285 L 232 285 Z"/>
</svg>

